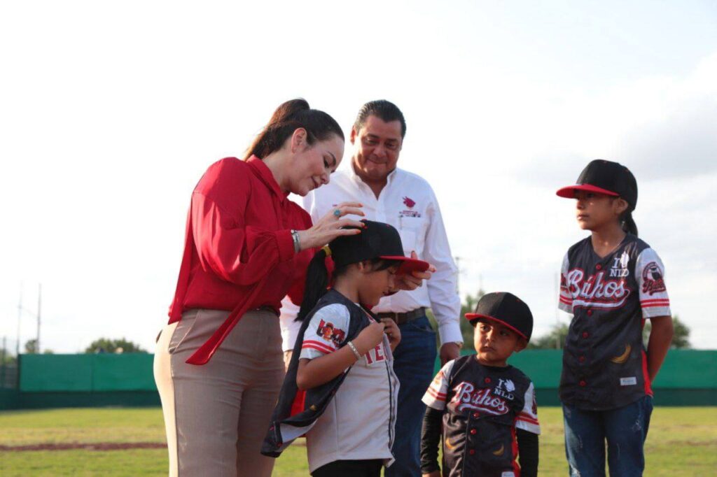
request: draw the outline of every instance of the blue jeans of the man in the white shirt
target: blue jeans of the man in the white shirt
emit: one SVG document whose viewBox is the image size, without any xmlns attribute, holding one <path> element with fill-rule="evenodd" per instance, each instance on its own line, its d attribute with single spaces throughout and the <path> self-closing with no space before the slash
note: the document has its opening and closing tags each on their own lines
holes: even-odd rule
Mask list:
<svg viewBox="0 0 717 477">
<path fill-rule="evenodd" d="M 394 372 L 399 387 L 396 438 L 391 449 L 396 461 L 385 477 L 421 476 L 421 425 L 426 405 L 421 398 L 433 380 L 436 334 L 423 316 L 399 326 L 401 342 L 394 351 Z"/>
</svg>

